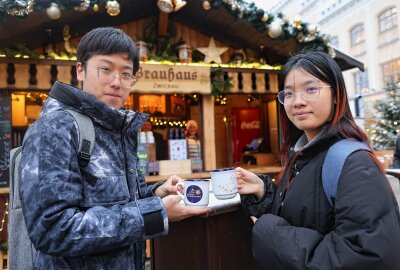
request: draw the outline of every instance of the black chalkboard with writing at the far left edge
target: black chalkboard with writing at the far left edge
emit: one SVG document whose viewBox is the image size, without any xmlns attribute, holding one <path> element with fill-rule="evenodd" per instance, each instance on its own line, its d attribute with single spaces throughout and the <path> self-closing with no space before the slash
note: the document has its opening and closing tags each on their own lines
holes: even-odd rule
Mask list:
<svg viewBox="0 0 400 270">
<path fill-rule="evenodd" d="M 0 187 L 8 187 L 11 150 L 11 95 L 0 93 Z"/>
</svg>

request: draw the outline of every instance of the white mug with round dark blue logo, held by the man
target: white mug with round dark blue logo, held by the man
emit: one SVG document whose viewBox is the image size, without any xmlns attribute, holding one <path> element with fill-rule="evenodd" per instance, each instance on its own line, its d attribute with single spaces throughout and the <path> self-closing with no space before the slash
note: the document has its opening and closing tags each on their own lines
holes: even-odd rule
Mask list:
<svg viewBox="0 0 400 270">
<path fill-rule="evenodd" d="M 199 208 L 208 206 L 210 196 L 210 181 L 208 179 L 187 179 L 184 182 L 178 182 L 176 186 L 181 186 L 185 191 L 185 194 L 182 194 L 179 190 L 176 191 L 185 205 Z"/>
</svg>

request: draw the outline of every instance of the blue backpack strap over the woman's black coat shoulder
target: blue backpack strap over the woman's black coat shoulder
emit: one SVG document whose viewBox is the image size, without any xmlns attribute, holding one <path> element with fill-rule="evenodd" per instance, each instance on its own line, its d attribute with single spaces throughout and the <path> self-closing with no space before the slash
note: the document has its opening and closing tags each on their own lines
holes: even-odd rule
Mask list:
<svg viewBox="0 0 400 270">
<path fill-rule="evenodd" d="M 354 139 L 344 139 L 329 147 L 322 165 L 322 186 L 329 204 L 333 207 L 340 174 L 348 156 L 366 150 L 372 152 L 367 144 Z"/>
</svg>

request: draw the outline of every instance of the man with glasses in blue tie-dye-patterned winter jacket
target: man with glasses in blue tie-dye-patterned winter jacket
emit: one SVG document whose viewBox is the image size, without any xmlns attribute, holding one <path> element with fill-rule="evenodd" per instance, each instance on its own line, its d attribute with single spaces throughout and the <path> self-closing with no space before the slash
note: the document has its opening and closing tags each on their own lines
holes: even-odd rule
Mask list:
<svg viewBox="0 0 400 270">
<path fill-rule="evenodd" d="M 76 65 L 82 90 L 56 82 L 28 130 L 19 167 L 22 209 L 38 250 L 35 269 L 143 269 L 144 239 L 168 221 L 203 214 L 179 204 L 175 184 L 147 186 L 138 171 L 137 132 L 148 115 L 122 108 L 139 68 L 121 30 L 98 28 L 81 40 Z M 89 164 L 78 164 L 73 109 L 95 128 Z"/>
</svg>

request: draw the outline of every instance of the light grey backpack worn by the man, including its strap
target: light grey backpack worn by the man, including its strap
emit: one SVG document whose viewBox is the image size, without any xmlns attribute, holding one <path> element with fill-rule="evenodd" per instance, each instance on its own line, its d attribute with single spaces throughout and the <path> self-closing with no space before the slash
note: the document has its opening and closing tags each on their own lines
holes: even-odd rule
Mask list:
<svg viewBox="0 0 400 270">
<path fill-rule="evenodd" d="M 80 112 L 66 110 L 78 124 L 78 158 L 82 173 L 93 152 L 95 133 L 92 120 Z M 36 249 L 29 239 L 19 197 L 18 167 L 21 160 L 21 147 L 10 152 L 10 199 L 8 216 L 8 260 L 13 270 L 31 270 L 36 257 Z"/>
</svg>

